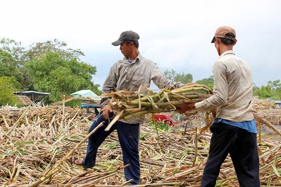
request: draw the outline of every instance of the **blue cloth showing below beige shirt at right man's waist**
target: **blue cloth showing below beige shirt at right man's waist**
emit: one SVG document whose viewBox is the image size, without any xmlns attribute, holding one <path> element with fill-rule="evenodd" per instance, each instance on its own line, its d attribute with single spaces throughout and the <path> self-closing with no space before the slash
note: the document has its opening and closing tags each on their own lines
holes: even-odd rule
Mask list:
<svg viewBox="0 0 281 187">
<path fill-rule="evenodd" d="M 226 119 L 221 119 L 221 118 L 215 118 L 214 123 L 218 123 L 218 122 L 222 122 L 222 123 L 226 123 L 228 125 L 232 125 L 235 127 L 239 127 L 242 129 L 245 129 L 248 132 L 252 132 L 252 133 L 256 133 L 256 124 L 255 124 L 255 120 L 251 120 L 251 121 L 241 121 L 241 122 L 232 122 Z"/>
</svg>

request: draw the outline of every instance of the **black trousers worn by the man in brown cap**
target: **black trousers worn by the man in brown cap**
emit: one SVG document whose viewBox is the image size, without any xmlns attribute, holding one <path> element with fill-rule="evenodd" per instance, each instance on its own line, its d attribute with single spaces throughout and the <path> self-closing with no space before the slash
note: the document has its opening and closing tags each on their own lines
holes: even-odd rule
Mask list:
<svg viewBox="0 0 281 187">
<path fill-rule="evenodd" d="M 240 186 L 260 186 L 256 133 L 225 123 L 213 123 L 210 130 L 213 134 L 201 186 L 215 186 L 228 153 Z"/>
</svg>

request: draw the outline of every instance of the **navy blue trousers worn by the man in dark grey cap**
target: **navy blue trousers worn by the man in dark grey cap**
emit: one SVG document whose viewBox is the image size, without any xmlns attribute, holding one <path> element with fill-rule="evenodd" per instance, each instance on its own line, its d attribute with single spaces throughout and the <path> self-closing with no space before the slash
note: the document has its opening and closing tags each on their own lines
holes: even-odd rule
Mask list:
<svg viewBox="0 0 281 187">
<path fill-rule="evenodd" d="M 112 120 L 112 113 L 109 114 L 109 117 Z M 83 159 L 83 167 L 90 168 L 95 166 L 98 147 L 111 132 L 117 130 L 119 143 L 122 149 L 123 164 L 130 164 L 130 166 L 124 168 L 125 178 L 126 180 L 133 179 L 130 184 L 139 184 L 139 178 L 141 177 L 138 154 L 139 123 L 130 124 L 117 121 L 109 131 L 105 131 L 104 129 L 108 125 L 108 119 L 102 116 L 101 111 L 94 119 L 89 133 L 102 121 L 105 121 L 103 125 L 88 139 L 87 154 Z"/>
</svg>

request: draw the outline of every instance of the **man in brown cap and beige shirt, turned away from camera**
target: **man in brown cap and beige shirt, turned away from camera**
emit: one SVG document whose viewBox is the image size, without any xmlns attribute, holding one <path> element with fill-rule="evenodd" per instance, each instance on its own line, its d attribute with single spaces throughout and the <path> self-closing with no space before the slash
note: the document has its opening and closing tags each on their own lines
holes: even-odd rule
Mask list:
<svg viewBox="0 0 281 187">
<path fill-rule="evenodd" d="M 212 43 L 219 58 L 213 65 L 214 95 L 195 104 L 178 106 L 180 113 L 194 109 L 216 111 L 210 127 L 213 134 L 201 186 L 215 186 L 220 166 L 228 153 L 240 186 L 260 185 L 257 131 L 251 106 L 251 69 L 235 56 L 232 48 L 236 42 L 233 28 L 222 26 L 216 30 Z"/>
</svg>

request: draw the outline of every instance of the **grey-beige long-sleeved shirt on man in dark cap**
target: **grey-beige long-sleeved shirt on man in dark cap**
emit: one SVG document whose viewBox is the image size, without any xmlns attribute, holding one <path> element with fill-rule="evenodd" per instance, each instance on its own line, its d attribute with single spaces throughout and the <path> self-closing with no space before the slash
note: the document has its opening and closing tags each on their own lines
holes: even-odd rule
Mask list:
<svg viewBox="0 0 281 187">
<path fill-rule="evenodd" d="M 139 86 L 142 84 L 146 84 L 149 87 L 151 81 L 160 89 L 164 87 L 172 90 L 185 85 L 181 82 L 175 82 L 165 78 L 153 61 L 144 58 L 139 53 L 131 63 L 124 57 L 113 64 L 104 81 L 102 94 L 117 90 L 138 91 Z M 103 98 L 100 103 L 102 105 L 105 104 L 107 102 L 106 99 Z M 145 116 L 138 116 L 129 118 L 128 120 L 121 119 L 120 121 L 139 123 L 144 122 L 144 120 Z"/>
</svg>

